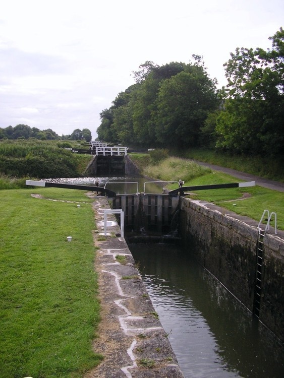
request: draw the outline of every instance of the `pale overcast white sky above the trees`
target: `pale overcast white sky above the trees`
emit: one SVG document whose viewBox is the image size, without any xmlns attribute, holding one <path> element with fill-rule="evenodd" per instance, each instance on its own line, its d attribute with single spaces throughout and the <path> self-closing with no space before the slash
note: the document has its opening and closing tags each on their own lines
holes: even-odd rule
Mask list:
<svg viewBox="0 0 284 378">
<path fill-rule="evenodd" d="M 236 47 L 271 47 L 282 0 L 9 0 L 0 7 L 0 127 L 87 128 L 151 60 L 203 55 L 218 87 Z"/>
</svg>

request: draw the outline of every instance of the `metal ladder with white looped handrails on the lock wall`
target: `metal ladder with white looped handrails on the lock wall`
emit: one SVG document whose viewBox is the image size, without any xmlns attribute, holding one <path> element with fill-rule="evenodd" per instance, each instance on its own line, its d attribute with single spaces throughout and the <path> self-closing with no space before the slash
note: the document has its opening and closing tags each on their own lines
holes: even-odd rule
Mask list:
<svg viewBox="0 0 284 378">
<path fill-rule="evenodd" d="M 263 231 L 260 228 L 260 224 L 267 213 L 267 224 L 265 226 L 265 230 Z M 264 235 L 266 231 L 269 230 L 269 223 L 271 220 L 271 216 L 274 215 L 275 219 L 275 234 L 277 234 L 277 226 L 276 226 L 276 213 L 272 212 L 269 214 L 268 210 L 264 210 L 262 217 L 258 223 L 258 241 L 257 241 L 257 250 L 256 250 L 256 276 L 255 276 L 255 289 L 254 289 L 254 303 L 253 303 L 253 314 L 259 318 L 260 312 L 260 302 L 261 302 L 261 284 L 262 284 L 262 265 L 263 265 L 263 247 L 264 247 Z"/>
</svg>

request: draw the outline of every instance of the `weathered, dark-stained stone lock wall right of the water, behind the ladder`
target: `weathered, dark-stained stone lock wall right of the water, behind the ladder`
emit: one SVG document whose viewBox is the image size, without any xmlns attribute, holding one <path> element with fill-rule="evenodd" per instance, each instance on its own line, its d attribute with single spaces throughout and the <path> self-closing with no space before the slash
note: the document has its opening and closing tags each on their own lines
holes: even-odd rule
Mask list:
<svg viewBox="0 0 284 378">
<path fill-rule="evenodd" d="M 180 199 L 180 210 L 180 232 L 185 248 L 253 311 L 257 222 L 246 222 L 245 217 L 228 210 L 186 198 Z M 283 240 L 266 234 L 259 320 L 281 341 L 284 341 L 283 278 Z"/>
</svg>

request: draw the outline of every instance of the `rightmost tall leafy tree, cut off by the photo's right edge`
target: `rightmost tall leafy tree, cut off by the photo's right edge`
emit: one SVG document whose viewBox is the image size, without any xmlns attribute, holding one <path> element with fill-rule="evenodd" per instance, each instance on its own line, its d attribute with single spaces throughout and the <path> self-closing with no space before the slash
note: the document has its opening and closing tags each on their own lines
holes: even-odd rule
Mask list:
<svg viewBox="0 0 284 378">
<path fill-rule="evenodd" d="M 284 32 L 272 50 L 237 48 L 224 64 L 228 78 L 225 110 L 216 119 L 216 147 L 239 153 L 283 151 Z"/>
</svg>

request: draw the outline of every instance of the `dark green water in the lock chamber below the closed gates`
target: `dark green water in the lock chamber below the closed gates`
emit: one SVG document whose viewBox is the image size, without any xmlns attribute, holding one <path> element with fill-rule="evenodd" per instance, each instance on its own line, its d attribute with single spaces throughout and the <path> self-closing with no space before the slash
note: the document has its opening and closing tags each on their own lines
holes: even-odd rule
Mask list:
<svg viewBox="0 0 284 378">
<path fill-rule="evenodd" d="M 129 247 L 185 378 L 284 376 L 283 345 L 189 251 Z"/>
</svg>

